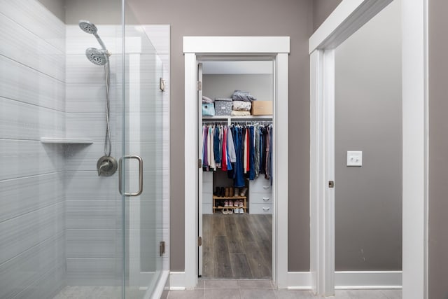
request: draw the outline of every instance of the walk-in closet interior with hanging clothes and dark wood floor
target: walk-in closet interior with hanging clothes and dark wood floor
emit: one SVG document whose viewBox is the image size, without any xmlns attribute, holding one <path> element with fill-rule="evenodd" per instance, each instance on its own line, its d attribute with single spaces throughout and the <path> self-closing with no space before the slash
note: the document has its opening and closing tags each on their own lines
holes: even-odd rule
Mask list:
<svg viewBox="0 0 448 299">
<path fill-rule="evenodd" d="M 198 65 L 203 278 L 272 279 L 273 66 Z"/>
</svg>

